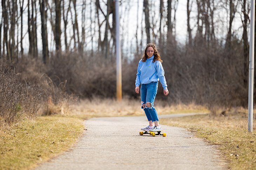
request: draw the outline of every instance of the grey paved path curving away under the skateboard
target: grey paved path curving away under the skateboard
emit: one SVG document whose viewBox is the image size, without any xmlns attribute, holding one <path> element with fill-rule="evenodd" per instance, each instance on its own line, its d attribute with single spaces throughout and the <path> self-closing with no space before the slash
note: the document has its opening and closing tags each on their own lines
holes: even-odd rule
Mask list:
<svg viewBox="0 0 256 170">
<path fill-rule="evenodd" d="M 183 114 L 168 117 L 177 116 Z M 87 131 L 74 147 L 36 169 L 226 169 L 216 146 L 184 128 L 162 125 L 166 137 L 140 136 L 146 125 L 146 116 L 86 120 Z"/>
</svg>

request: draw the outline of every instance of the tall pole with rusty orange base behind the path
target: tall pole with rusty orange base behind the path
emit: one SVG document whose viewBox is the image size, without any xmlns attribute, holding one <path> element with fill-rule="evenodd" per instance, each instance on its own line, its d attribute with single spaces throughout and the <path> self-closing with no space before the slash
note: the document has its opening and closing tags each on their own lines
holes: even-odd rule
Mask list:
<svg viewBox="0 0 256 170">
<path fill-rule="evenodd" d="M 119 1 L 115 0 L 116 12 L 116 98 L 122 100 L 122 59 L 119 40 Z"/>
</svg>

